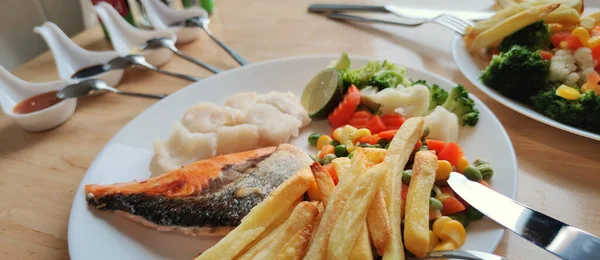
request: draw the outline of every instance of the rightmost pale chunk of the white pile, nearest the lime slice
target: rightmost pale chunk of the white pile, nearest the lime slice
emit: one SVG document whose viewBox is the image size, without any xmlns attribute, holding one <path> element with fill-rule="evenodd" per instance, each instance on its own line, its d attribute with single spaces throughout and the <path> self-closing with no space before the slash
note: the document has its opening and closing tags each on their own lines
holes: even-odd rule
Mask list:
<svg viewBox="0 0 600 260">
<path fill-rule="evenodd" d="M 246 114 L 246 122 L 258 127 L 260 145 L 277 145 L 298 136 L 298 128 L 302 125 L 297 118 L 281 113 L 269 104 L 258 103 Z"/>
</svg>

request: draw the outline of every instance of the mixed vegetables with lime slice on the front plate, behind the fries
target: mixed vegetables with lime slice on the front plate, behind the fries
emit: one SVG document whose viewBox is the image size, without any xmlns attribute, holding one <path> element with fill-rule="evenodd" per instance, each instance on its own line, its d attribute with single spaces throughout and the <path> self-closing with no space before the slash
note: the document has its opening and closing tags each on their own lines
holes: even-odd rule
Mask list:
<svg viewBox="0 0 600 260">
<path fill-rule="evenodd" d="M 323 165 L 337 184 L 335 162 L 332 163 L 335 159 L 352 158 L 357 147 L 388 149 L 407 118 L 423 117 L 425 130 L 402 173 L 402 198 L 406 199 L 409 190 L 415 154 L 435 151 L 437 172 L 429 197 L 431 239 L 437 241 L 434 250 L 460 248 L 465 241 L 465 227 L 483 215 L 452 191 L 447 185 L 449 175 L 460 172 L 489 187 L 494 174 L 486 160 L 470 163 L 456 143 L 460 126 L 472 127 L 478 122 L 474 101 L 460 85 L 446 91 L 422 80 L 412 81 L 404 68 L 388 61 L 371 61 L 358 69 L 349 67 L 348 56 L 343 53 L 330 68 L 319 72 L 302 94 L 309 116 L 327 119 L 333 129 L 331 133 L 312 133 L 308 137 L 308 143 L 317 149 L 311 157 Z M 446 225 L 450 231 L 441 232 Z M 439 243 L 448 232 L 458 237 L 453 241 L 462 242 Z"/>
</svg>

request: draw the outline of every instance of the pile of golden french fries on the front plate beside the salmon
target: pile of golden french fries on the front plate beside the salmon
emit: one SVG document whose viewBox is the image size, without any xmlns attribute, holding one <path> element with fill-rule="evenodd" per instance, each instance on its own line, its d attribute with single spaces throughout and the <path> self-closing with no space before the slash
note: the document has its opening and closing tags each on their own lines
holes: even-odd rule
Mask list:
<svg viewBox="0 0 600 260">
<path fill-rule="evenodd" d="M 404 259 L 403 216 L 406 248 L 425 256 L 433 246 L 429 196 L 437 170 L 434 152 L 416 153 L 406 202 L 401 198 L 402 171 L 422 132 L 423 118 L 411 118 L 389 149 L 357 148 L 352 159 L 333 160 L 337 186 L 318 163 L 300 170 L 196 259 L 373 259 L 374 254 Z M 313 182 L 320 200 L 303 201 Z"/>
</svg>

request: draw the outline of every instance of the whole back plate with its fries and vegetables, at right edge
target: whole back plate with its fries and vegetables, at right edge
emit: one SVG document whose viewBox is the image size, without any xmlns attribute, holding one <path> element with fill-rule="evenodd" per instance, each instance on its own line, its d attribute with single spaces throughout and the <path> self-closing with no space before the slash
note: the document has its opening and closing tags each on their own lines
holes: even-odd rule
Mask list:
<svg viewBox="0 0 600 260">
<path fill-rule="evenodd" d="M 585 7 L 581 0 L 506 7 L 454 37 L 454 60 L 499 103 L 600 140 L 600 12 Z"/>
</svg>

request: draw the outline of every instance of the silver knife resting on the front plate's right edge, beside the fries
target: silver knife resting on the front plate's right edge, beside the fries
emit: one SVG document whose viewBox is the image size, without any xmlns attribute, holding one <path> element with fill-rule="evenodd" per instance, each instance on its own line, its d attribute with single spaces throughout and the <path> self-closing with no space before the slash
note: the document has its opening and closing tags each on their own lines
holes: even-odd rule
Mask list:
<svg viewBox="0 0 600 260">
<path fill-rule="evenodd" d="M 460 173 L 450 173 L 448 184 L 487 217 L 562 259 L 600 259 L 597 236 L 532 210 Z"/>
</svg>

